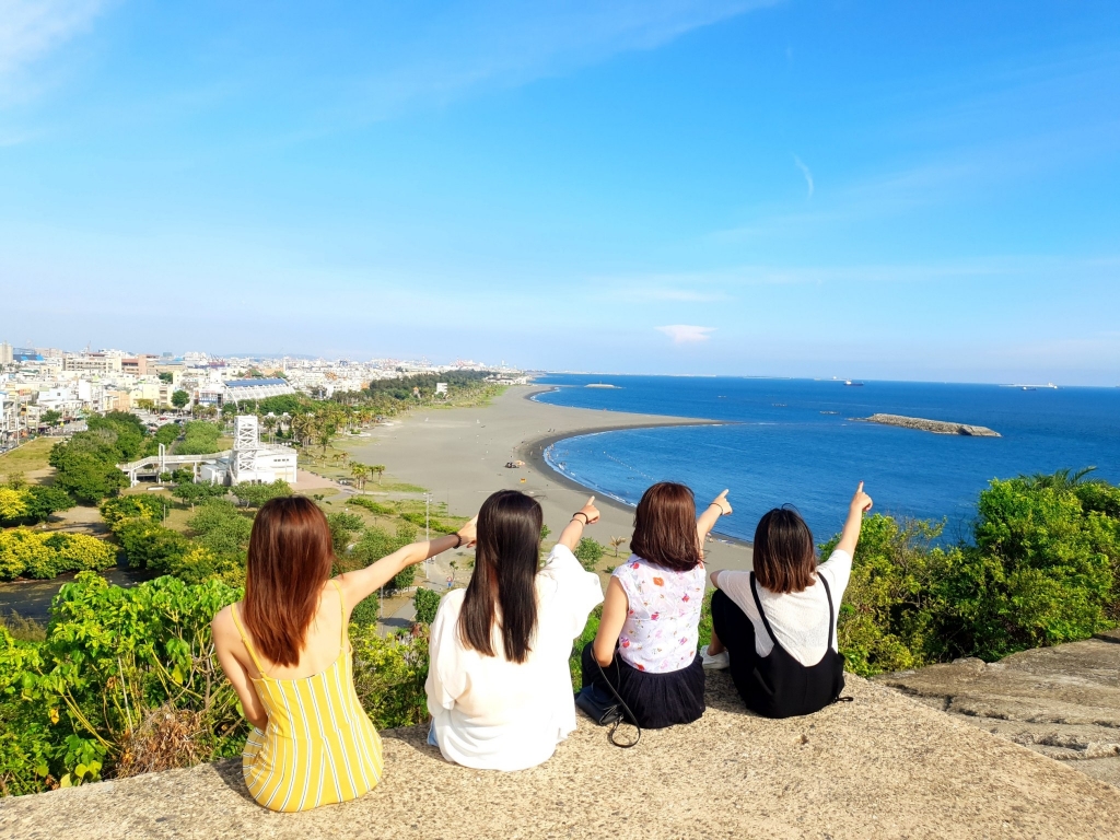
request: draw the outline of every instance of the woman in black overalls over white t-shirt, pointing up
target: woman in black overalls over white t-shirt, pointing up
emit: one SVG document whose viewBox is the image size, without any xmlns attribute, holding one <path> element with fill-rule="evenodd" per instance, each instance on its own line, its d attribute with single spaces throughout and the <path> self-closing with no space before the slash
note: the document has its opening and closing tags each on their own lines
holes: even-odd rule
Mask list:
<svg viewBox="0 0 1120 840">
<path fill-rule="evenodd" d="M 843 691 L 837 650 L 840 599 L 851 577 L 864 513 L 860 482 L 840 542 L 818 566 L 813 535 L 796 511 L 777 507 L 755 530 L 754 571 L 712 572 L 711 644 L 704 668 L 731 669 L 747 708 L 767 718 L 812 715 Z"/>
</svg>

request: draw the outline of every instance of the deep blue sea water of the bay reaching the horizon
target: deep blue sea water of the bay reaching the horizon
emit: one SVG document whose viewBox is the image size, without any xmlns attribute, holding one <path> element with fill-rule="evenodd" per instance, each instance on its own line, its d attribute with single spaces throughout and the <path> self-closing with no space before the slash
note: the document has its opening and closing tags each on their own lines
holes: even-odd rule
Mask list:
<svg viewBox="0 0 1120 840">
<path fill-rule="evenodd" d="M 610 389 L 588 384 L 615 385 Z M 968 535 L 992 478 L 1095 466 L 1120 482 L 1120 388 L 1021 388 L 678 376 L 549 375 L 540 402 L 728 421 L 569 438 L 545 457 L 597 493 L 637 504 L 654 482 L 688 484 L 699 504 L 730 488 L 718 531 L 750 540 L 759 516 L 793 504 L 818 541 L 840 530 L 856 485 L 877 511 L 945 520 Z M 987 426 L 1000 438 L 932 435 L 850 418 L 876 412 Z"/>
</svg>

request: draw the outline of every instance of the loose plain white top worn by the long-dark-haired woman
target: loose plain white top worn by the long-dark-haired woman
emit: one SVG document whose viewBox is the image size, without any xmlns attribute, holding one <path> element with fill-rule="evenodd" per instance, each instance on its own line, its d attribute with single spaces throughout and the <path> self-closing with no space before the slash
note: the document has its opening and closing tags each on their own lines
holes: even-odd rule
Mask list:
<svg viewBox="0 0 1120 840">
<path fill-rule="evenodd" d="M 464 647 L 459 612 L 465 589 L 444 596 L 431 625 L 428 711 L 444 757 L 478 769 L 533 767 L 576 730 L 568 656 L 587 616 L 603 601 L 597 575 L 563 545 L 536 575 L 536 632 L 529 659 L 505 659 L 494 625 L 494 656 Z"/>
</svg>

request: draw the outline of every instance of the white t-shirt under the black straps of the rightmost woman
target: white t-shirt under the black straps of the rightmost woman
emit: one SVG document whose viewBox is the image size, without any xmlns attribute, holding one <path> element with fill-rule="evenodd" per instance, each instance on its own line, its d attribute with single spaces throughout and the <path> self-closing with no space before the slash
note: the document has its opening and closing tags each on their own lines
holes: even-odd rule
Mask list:
<svg viewBox="0 0 1120 840">
<path fill-rule="evenodd" d="M 837 650 L 836 622 L 840 615 L 840 598 L 851 578 L 851 554 L 847 551 L 833 551 L 825 562 L 816 567 L 818 580 L 800 592 L 775 595 L 755 581 L 758 600 L 762 601 L 775 637 L 786 653 L 806 668 L 824 657 L 824 648 L 829 643 L 829 601 L 824 587 L 821 586 L 822 576 L 828 579 L 832 592 L 832 650 Z M 755 651 L 759 656 L 768 656 L 774 650 L 774 643 L 750 595 L 750 572 L 721 571 L 717 579 L 718 588 L 735 601 L 754 625 Z"/>
</svg>

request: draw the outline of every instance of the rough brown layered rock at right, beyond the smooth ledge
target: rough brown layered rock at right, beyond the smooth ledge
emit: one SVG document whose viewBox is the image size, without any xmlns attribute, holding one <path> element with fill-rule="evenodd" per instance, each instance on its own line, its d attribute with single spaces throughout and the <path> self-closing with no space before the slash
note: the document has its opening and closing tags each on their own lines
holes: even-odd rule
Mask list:
<svg viewBox="0 0 1120 840">
<path fill-rule="evenodd" d="M 877 680 L 1120 787 L 1120 631 L 990 664 L 958 660 Z"/>
</svg>

